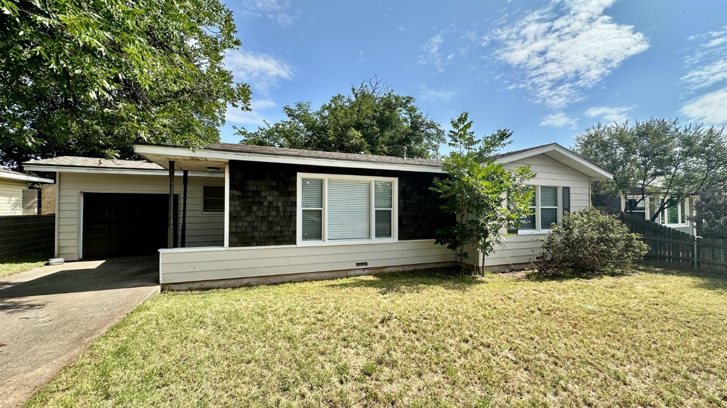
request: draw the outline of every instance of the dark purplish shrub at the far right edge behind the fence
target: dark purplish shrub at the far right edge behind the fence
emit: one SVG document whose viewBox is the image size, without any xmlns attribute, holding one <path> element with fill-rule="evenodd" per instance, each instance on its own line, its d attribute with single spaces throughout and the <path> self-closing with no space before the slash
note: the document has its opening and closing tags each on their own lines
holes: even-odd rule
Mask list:
<svg viewBox="0 0 727 408">
<path fill-rule="evenodd" d="M 727 186 L 715 185 L 699 195 L 694 205 L 699 236 L 727 238 Z"/>
</svg>

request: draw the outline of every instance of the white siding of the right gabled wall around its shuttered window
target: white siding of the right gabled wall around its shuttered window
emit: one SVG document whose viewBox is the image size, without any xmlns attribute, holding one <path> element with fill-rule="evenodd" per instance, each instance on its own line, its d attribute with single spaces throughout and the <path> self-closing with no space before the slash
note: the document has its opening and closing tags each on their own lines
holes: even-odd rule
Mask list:
<svg viewBox="0 0 727 408">
<path fill-rule="evenodd" d="M 523 164 L 530 164 L 530 169 L 535 172 L 535 177 L 529 182 L 531 185 L 553 185 L 571 188 L 571 212 L 585 209 L 590 205 L 589 178 L 587 175 L 561 164 L 559 161 L 550 159 L 545 154 L 531 156 L 521 161 L 513 161 L 505 164 L 506 169 L 514 169 Z M 538 237 L 544 235 L 511 235 L 505 236 L 505 244 L 498 247 L 489 257 L 484 257 L 480 265 L 485 270 L 488 266 L 515 265 L 528 263 L 531 258 L 537 256 L 542 246 Z"/>
</svg>

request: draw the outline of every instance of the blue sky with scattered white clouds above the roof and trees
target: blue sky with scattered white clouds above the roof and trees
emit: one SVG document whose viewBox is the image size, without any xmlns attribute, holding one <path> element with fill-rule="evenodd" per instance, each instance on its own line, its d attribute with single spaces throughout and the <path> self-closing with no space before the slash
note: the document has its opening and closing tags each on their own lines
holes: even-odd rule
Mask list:
<svg viewBox="0 0 727 408">
<path fill-rule="evenodd" d="M 377 74 L 430 118 L 470 113 L 512 148 L 558 142 L 598 121 L 727 124 L 727 1 L 235 1 L 243 46 L 225 57 L 252 85 L 257 129 Z M 443 148 L 446 151 L 446 148 Z"/>
</svg>

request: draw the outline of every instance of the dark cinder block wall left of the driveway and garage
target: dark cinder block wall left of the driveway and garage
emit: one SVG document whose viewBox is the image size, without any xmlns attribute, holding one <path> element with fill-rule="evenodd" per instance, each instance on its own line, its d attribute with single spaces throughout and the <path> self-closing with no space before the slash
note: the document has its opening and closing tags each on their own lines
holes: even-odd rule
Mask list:
<svg viewBox="0 0 727 408">
<path fill-rule="evenodd" d="M 55 214 L 0 217 L 0 258 L 45 252 L 53 255 Z"/>
</svg>

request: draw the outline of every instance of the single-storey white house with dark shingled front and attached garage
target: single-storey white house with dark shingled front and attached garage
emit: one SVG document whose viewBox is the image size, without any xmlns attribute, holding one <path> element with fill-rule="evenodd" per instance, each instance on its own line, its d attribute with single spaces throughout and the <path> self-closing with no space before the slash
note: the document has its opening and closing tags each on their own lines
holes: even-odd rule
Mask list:
<svg viewBox="0 0 727 408">
<path fill-rule="evenodd" d="M 453 265 L 434 243 L 451 225 L 430 190 L 441 162 L 219 143 L 190 151 L 135 145 L 148 161 L 58 157 L 56 255 L 67 260 L 159 252 L 166 287 L 243 284 Z M 610 173 L 558 144 L 496 157 L 537 174 L 534 216 L 473 267 L 529 264 L 551 222 L 590 206 Z M 171 209 L 171 210 L 170 210 Z"/>
</svg>

